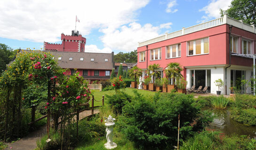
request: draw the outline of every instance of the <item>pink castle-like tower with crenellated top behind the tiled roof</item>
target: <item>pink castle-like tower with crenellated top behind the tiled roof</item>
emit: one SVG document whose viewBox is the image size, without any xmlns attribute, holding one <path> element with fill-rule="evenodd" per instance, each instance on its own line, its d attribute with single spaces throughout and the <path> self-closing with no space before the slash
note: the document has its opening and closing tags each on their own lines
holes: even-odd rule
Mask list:
<svg viewBox="0 0 256 150">
<path fill-rule="evenodd" d="M 44 50 L 47 51 L 61 51 L 61 52 L 84 52 L 85 51 L 85 44 L 86 38 L 82 37 L 81 34 L 77 31 L 76 33 L 72 30 L 72 34 L 61 35 L 62 44 L 53 44 L 44 42 Z"/>
</svg>

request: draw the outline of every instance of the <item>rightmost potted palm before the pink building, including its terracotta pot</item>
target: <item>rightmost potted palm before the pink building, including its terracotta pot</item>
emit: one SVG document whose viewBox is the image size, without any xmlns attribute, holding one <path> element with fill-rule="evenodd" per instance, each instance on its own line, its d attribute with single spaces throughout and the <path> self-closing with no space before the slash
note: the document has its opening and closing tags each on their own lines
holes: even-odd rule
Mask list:
<svg viewBox="0 0 256 150">
<path fill-rule="evenodd" d="M 175 89 L 174 80 L 183 77 L 180 73 L 182 70 L 183 68 L 178 62 L 171 62 L 168 64 L 167 69 L 164 70 L 165 76 L 168 77 L 169 81 L 172 79 L 173 82 L 172 84 L 167 85 L 167 92 L 171 92 L 171 90 Z"/>
</svg>

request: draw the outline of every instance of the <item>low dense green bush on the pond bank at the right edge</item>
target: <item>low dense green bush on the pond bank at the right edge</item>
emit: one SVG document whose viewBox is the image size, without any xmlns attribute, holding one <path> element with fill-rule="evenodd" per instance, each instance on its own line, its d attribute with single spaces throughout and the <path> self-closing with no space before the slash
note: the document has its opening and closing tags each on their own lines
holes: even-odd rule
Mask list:
<svg viewBox="0 0 256 150">
<path fill-rule="evenodd" d="M 256 126 L 256 109 L 232 108 L 230 116 L 233 120 L 244 123 L 249 126 Z"/>
</svg>

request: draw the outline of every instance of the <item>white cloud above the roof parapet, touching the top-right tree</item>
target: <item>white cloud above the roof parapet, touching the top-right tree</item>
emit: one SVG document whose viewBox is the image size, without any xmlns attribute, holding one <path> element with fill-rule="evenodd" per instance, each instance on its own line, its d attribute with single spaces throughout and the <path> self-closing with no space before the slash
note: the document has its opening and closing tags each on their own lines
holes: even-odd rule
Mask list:
<svg viewBox="0 0 256 150">
<path fill-rule="evenodd" d="M 202 16 L 199 22 L 205 22 L 212 18 L 220 17 L 220 8 L 226 10 L 231 5 L 232 0 L 210 0 L 209 4 L 199 11 L 204 11 L 206 15 Z"/>
</svg>

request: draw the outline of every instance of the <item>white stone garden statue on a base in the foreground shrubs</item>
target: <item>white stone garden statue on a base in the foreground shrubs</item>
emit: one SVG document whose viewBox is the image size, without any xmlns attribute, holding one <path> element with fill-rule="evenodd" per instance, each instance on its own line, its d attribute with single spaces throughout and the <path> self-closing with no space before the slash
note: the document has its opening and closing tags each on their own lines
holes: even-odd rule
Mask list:
<svg viewBox="0 0 256 150">
<path fill-rule="evenodd" d="M 106 128 L 106 132 L 107 132 L 107 135 L 106 135 L 106 138 L 107 138 L 107 143 L 105 143 L 105 148 L 106 149 L 114 149 L 116 148 L 116 143 L 113 143 L 113 128 L 114 128 L 114 125 L 115 125 L 115 122 L 114 120 L 116 120 L 115 118 L 112 118 L 112 116 L 109 115 L 109 117 L 104 117 L 105 118 L 105 126 L 107 126 Z"/>
</svg>

